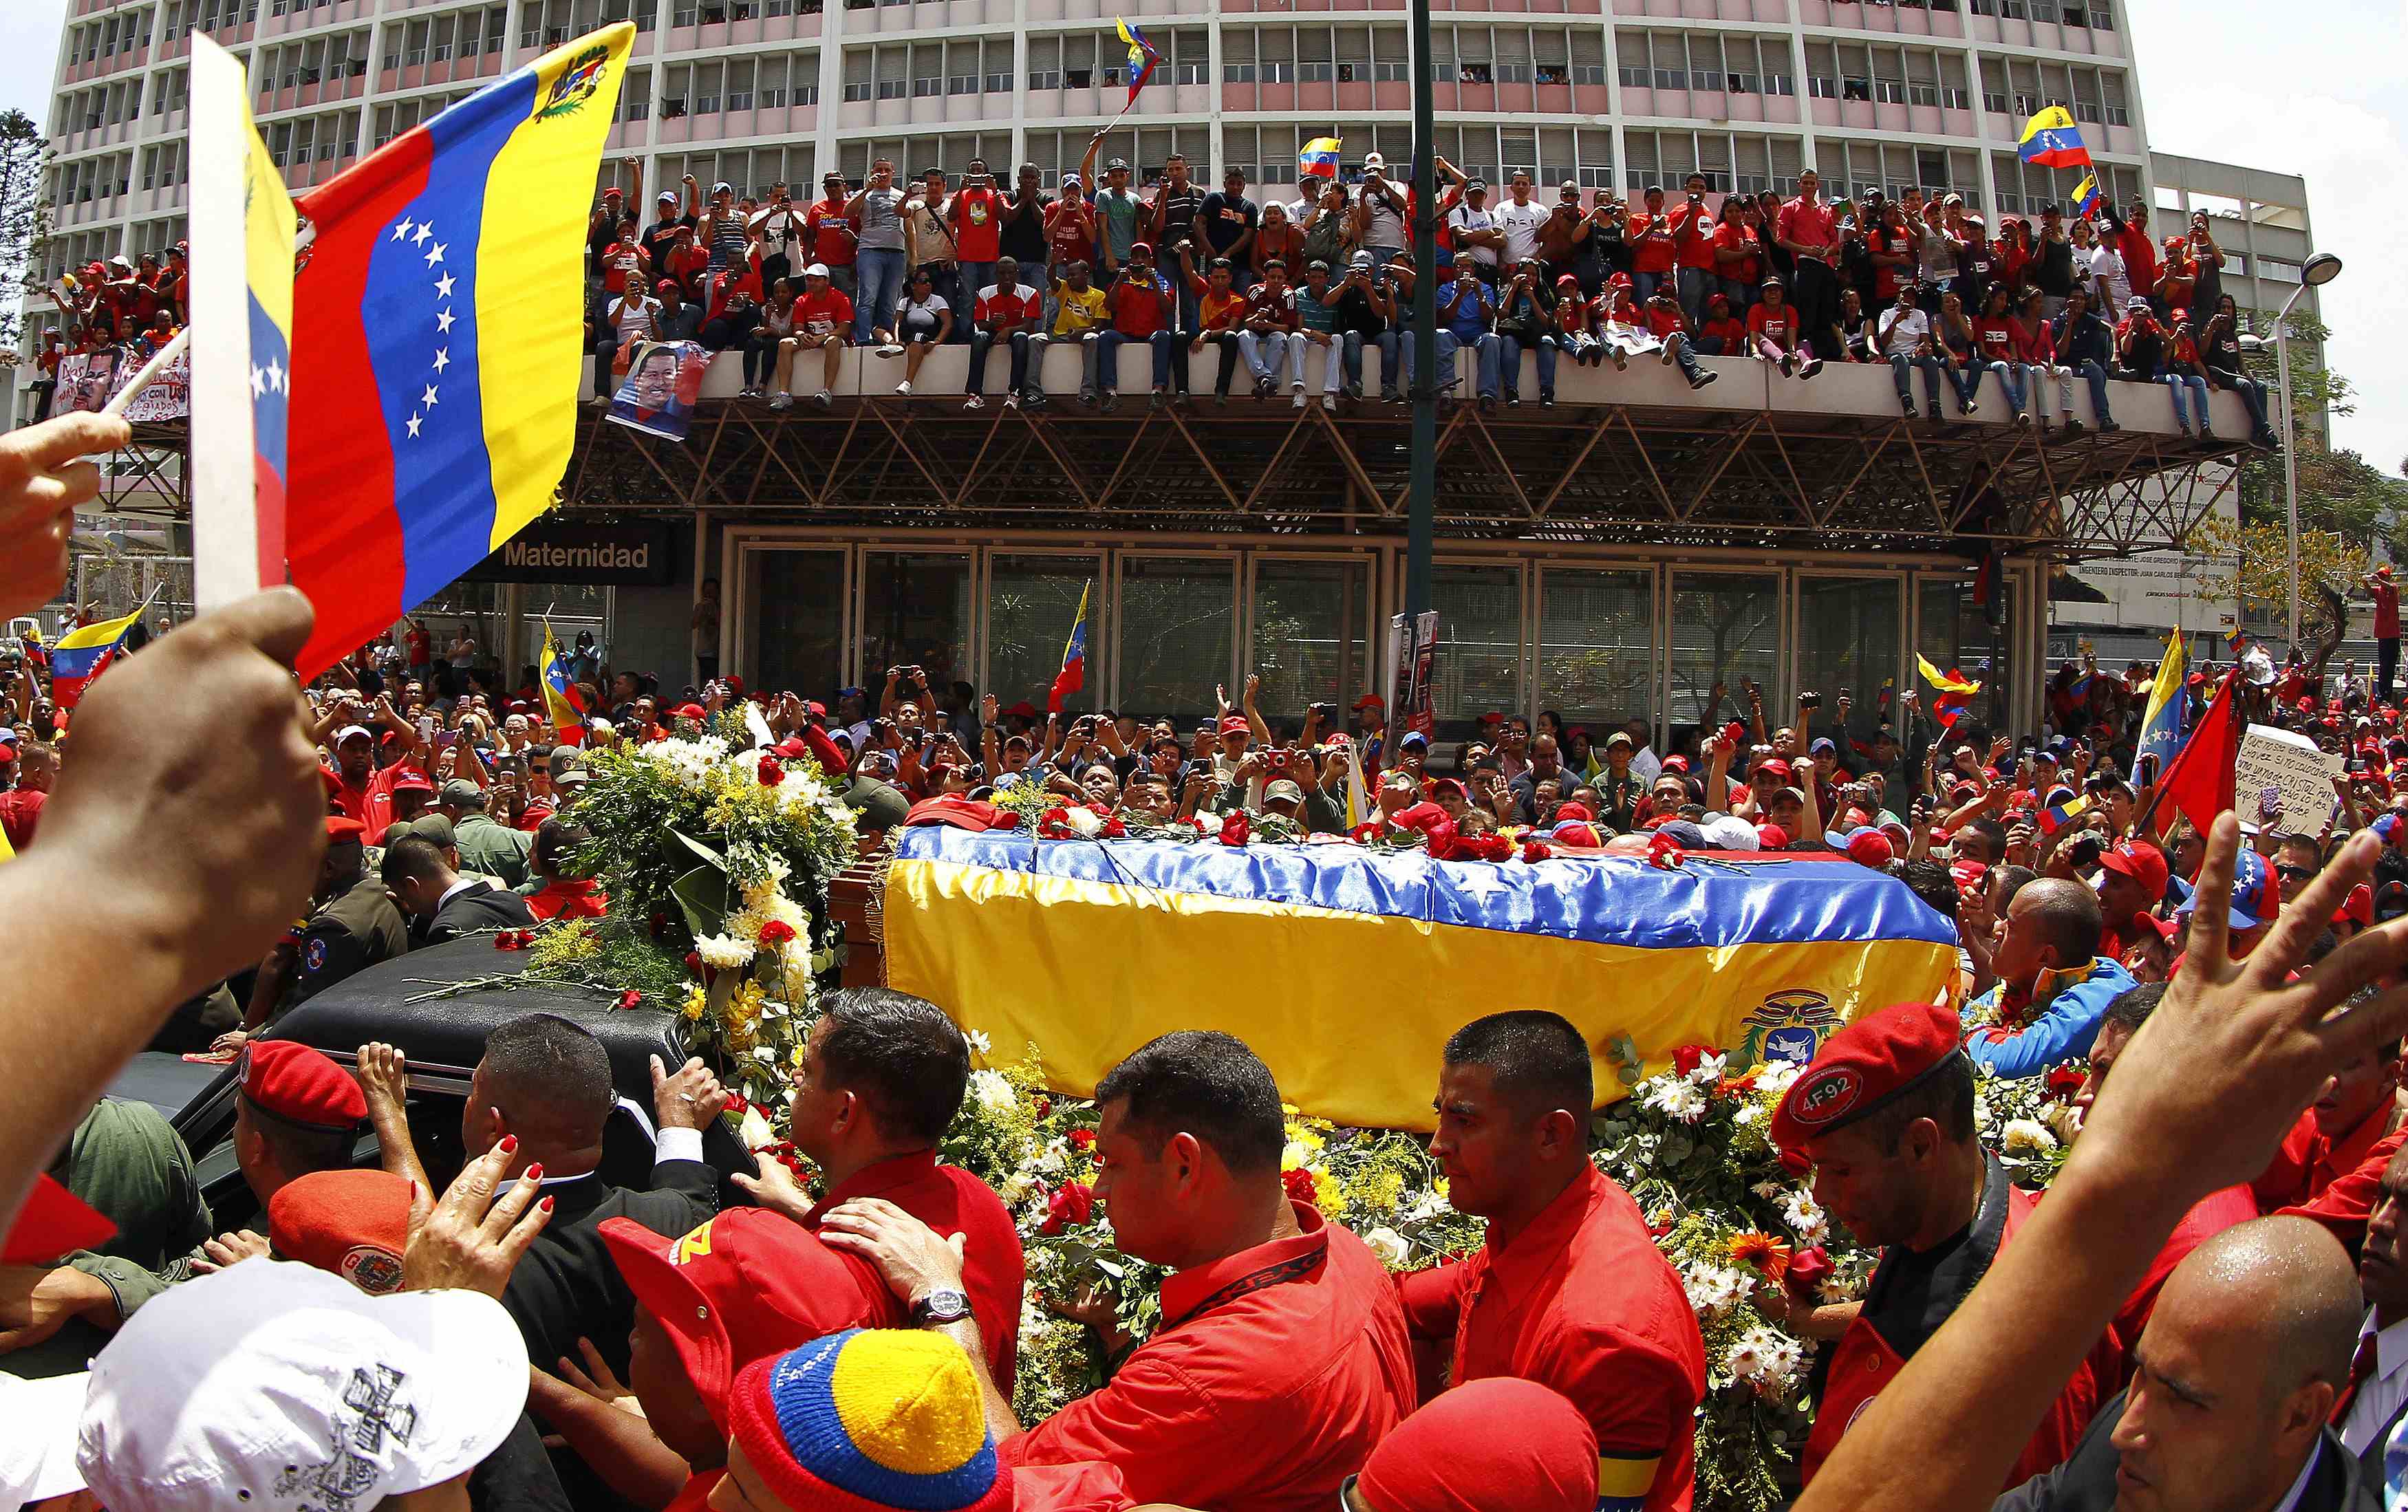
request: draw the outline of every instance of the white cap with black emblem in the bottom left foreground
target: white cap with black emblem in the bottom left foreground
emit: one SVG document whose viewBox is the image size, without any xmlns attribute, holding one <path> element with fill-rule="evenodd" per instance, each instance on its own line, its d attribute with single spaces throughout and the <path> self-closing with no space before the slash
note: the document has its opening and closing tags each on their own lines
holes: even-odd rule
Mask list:
<svg viewBox="0 0 2408 1512">
<path fill-rule="evenodd" d="M 494 1298 L 250 1259 L 92 1360 L 77 1464 L 111 1512 L 373 1507 L 477 1469 L 525 1406 L 527 1343 Z"/>
</svg>

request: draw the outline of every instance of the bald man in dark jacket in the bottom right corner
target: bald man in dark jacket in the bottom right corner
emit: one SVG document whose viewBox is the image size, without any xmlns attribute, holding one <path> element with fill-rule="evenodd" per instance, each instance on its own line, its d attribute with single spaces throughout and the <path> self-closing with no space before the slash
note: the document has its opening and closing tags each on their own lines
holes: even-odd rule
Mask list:
<svg viewBox="0 0 2408 1512">
<path fill-rule="evenodd" d="M 2357 1274 L 2304 1218 L 2256 1218 L 2174 1266 L 2131 1387 L 2073 1459 L 1991 1512 L 2379 1512 L 2326 1421 L 2357 1346 Z"/>
</svg>

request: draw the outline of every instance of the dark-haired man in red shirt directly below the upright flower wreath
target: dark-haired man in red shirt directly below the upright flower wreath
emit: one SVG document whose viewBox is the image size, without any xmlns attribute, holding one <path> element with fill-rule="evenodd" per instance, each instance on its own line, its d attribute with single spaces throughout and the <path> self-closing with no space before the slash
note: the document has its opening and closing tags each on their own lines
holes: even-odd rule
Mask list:
<svg viewBox="0 0 2408 1512">
<path fill-rule="evenodd" d="M 759 1180 L 734 1180 L 814 1233 L 855 1197 L 881 1197 L 939 1235 L 958 1233 L 987 1368 L 1009 1382 L 1019 1372 L 1021 1235 L 985 1182 L 937 1163 L 937 1141 L 968 1086 L 970 1045 L 944 1009 L 886 987 L 845 987 L 828 997 L 795 1069 L 790 1136 L 819 1168 L 826 1197 L 814 1204 L 775 1160 L 761 1160 Z"/>
</svg>

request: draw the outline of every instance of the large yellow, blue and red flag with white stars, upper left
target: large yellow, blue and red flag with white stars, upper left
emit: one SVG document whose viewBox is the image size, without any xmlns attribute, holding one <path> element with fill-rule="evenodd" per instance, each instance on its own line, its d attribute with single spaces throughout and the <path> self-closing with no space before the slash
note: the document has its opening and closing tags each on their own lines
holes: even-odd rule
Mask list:
<svg viewBox="0 0 2408 1512">
<path fill-rule="evenodd" d="M 287 527 L 301 677 L 551 506 L 576 441 L 585 217 L 636 29 L 571 41 L 301 202 Z"/>
</svg>

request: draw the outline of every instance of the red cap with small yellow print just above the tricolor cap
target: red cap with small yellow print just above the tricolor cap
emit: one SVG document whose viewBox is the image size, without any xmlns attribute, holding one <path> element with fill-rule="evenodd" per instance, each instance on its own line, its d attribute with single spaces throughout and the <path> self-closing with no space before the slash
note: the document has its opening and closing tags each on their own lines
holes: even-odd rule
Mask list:
<svg viewBox="0 0 2408 1512">
<path fill-rule="evenodd" d="M 720 1430 L 727 1389 L 754 1360 L 824 1334 L 901 1322 L 877 1271 L 768 1209 L 725 1211 L 681 1240 L 633 1218 L 604 1218 L 602 1242 L 626 1288 L 667 1329 Z"/>
</svg>

